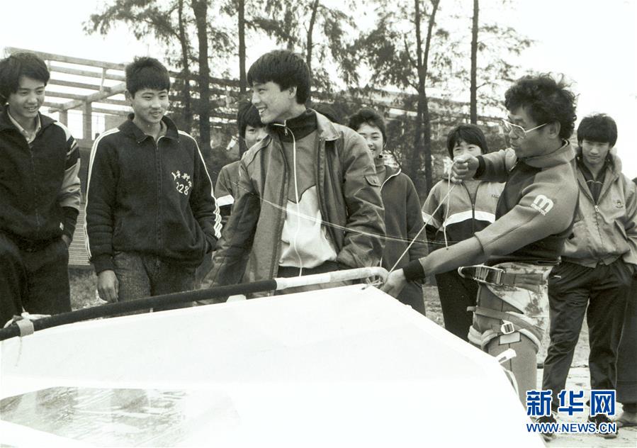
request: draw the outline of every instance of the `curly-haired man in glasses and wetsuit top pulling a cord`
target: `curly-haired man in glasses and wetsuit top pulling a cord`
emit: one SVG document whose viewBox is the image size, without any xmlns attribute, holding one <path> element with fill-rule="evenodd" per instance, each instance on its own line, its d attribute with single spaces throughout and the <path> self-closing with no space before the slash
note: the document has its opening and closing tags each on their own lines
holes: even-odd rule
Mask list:
<svg viewBox="0 0 637 448">
<path fill-rule="evenodd" d="M 522 403 L 536 388 L 536 352 L 548 326 L 548 274 L 558 264 L 577 206 L 577 183 L 568 143 L 575 96 L 548 75 L 519 79 L 505 94 L 504 129 L 511 148 L 454 159 L 453 176 L 506 181 L 495 223 L 449 248 L 393 271 L 383 286 L 392 295 L 405 281 L 459 269 L 480 282 L 469 340 L 497 356 L 517 357 L 513 372 Z M 486 266 L 470 266 L 485 263 Z"/>
</svg>

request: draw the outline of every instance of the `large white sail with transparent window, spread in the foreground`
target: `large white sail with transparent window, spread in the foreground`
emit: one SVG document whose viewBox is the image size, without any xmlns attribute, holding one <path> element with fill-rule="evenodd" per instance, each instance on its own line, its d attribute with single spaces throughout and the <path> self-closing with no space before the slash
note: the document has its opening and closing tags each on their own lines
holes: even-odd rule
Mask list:
<svg viewBox="0 0 637 448">
<path fill-rule="evenodd" d="M 9 446 L 541 447 L 494 358 L 373 286 L 0 342 Z"/>
</svg>

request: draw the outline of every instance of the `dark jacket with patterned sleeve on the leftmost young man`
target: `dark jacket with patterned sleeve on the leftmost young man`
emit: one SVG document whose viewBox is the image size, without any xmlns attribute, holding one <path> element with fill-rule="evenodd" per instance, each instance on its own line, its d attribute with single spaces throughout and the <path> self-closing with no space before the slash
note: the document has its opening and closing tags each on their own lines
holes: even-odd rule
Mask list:
<svg viewBox="0 0 637 448">
<path fill-rule="evenodd" d="M 72 238 L 81 201 L 77 142 L 62 123 L 40 114 L 28 144 L 0 111 L 0 232 L 23 242 Z"/>
</svg>

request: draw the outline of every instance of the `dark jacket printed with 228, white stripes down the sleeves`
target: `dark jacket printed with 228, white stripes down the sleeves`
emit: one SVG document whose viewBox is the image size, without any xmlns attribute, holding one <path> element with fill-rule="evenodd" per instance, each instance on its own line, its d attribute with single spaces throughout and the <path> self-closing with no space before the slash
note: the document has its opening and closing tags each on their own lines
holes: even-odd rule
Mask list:
<svg viewBox="0 0 637 448">
<path fill-rule="evenodd" d="M 164 116 L 155 142 L 133 123 L 94 142 L 86 190 L 86 245 L 96 273 L 113 252 L 154 254 L 198 266 L 220 237 L 221 217 L 196 141 Z"/>
</svg>

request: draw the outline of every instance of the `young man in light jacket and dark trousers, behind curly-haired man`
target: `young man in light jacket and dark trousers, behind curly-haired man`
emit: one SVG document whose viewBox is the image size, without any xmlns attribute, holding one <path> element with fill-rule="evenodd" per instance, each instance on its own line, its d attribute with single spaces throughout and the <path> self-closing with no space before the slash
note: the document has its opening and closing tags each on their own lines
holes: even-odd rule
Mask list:
<svg viewBox="0 0 637 448">
<path fill-rule="evenodd" d="M 637 192 L 611 150 L 616 136 L 615 122 L 602 114 L 584 118 L 577 128 L 577 218 L 548 282 L 551 345 L 542 388 L 553 391 L 553 410 L 560 405 L 585 315 L 591 388 L 615 386 L 621 323 L 637 267 Z M 609 421 L 606 415 L 596 419 Z"/>
</svg>

